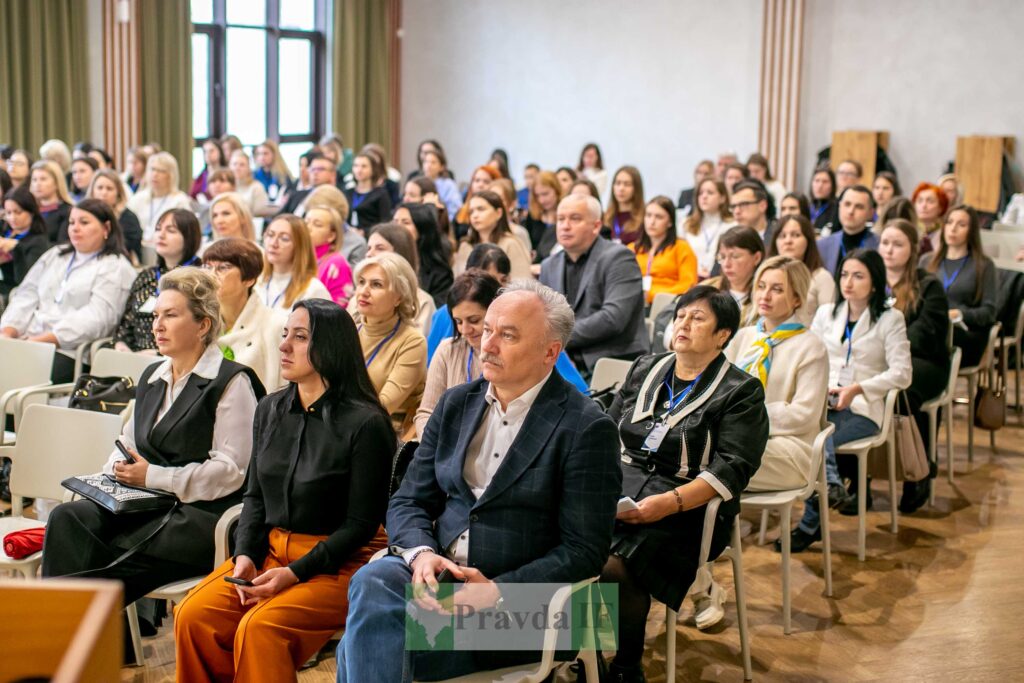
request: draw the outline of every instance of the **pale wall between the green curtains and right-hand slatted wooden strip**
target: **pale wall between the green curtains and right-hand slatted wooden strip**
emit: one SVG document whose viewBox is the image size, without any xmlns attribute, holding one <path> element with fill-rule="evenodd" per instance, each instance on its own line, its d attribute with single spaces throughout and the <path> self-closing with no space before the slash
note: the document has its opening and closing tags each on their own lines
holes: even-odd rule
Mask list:
<svg viewBox="0 0 1024 683">
<path fill-rule="evenodd" d="M 675 199 L 701 158 L 754 151 L 759 0 L 406 0 L 401 167 L 441 141 L 459 180 L 496 146 L 512 173 L 636 165 Z M 610 183 L 609 183 L 610 184 Z"/>
</svg>

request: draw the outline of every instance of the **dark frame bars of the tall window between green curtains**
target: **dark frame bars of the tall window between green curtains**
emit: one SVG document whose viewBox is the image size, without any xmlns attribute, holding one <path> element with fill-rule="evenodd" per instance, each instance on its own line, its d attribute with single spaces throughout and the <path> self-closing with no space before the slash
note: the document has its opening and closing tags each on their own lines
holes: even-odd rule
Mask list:
<svg viewBox="0 0 1024 683">
<path fill-rule="evenodd" d="M 207 130 L 209 137 L 220 138 L 230 133 L 227 130 L 227 29 L 258 29 L 266 34 L 266 136 L 279 143 L 309 142 L 315 144 L 327 129 L 327 3 L 313 0 L 314 29 L 281 28 L 281 3 L 287 0 L 266 0 L 266 17 L 262 25 L 241 25 L 227 23 L 226 0 L 213 0 L 213 24 L 193 24 L 191 33 L 204 34 L 209 38 L 210 65 L 209 89 L 207 97 Z M 283 39 L 309 41 L 312 52 L 309 75 L 309 132 L 282 135 L 280 133 L 281 94 L 278 42 Z M 193 138 L 194 146 L 201 146 L 207 138 Z M 258 142 L 254 142 L 258 143 Z"/>
</svg>

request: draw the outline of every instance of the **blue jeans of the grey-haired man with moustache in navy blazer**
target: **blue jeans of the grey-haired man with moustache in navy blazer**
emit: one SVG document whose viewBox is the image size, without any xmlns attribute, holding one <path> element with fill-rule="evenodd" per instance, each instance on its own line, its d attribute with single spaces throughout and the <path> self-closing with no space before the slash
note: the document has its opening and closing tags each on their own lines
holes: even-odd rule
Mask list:
<svg viewBox="0 0 1024 683">
<path fill-rule="evenodd" d="M 338 643 L 338 683 L 442 681 L 476 671 L 473 653 L 406 650 L 406 585 L 413 570 L 388 556 L 362 566 L 348 585 L 348 622 Z"/>
</svg>

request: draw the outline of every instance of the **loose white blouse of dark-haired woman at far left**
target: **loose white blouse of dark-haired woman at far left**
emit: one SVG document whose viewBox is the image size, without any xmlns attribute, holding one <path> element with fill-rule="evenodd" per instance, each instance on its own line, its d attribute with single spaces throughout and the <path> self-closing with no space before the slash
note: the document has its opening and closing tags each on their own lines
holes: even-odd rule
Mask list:
<svg viewBox="0 0 1024 683">
<path fill-rule="evenodd" d="M 20 337 L 53 333 L 63 351 L 114 334 L 135 269 L 124 256 L 61 253 L 67 249 L 53 247 L 39 257 L 14 290 L 0 328 L 14 328 Z"/>
</svg>

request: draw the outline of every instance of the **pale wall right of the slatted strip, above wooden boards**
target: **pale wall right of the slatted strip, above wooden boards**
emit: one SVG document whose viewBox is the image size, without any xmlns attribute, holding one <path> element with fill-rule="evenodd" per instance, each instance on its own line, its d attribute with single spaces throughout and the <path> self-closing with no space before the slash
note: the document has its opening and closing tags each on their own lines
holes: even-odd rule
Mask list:
<svg viewBox="0 0 1024 683">
<path fill-rule="evenodd" d="M 1019 0 L 807 2 L 800 186 L 833 130 L 888 130 L 904 191 L 942 173 L 958 135 L 1019 150 L 1022 25 Z"/>
</svg>

